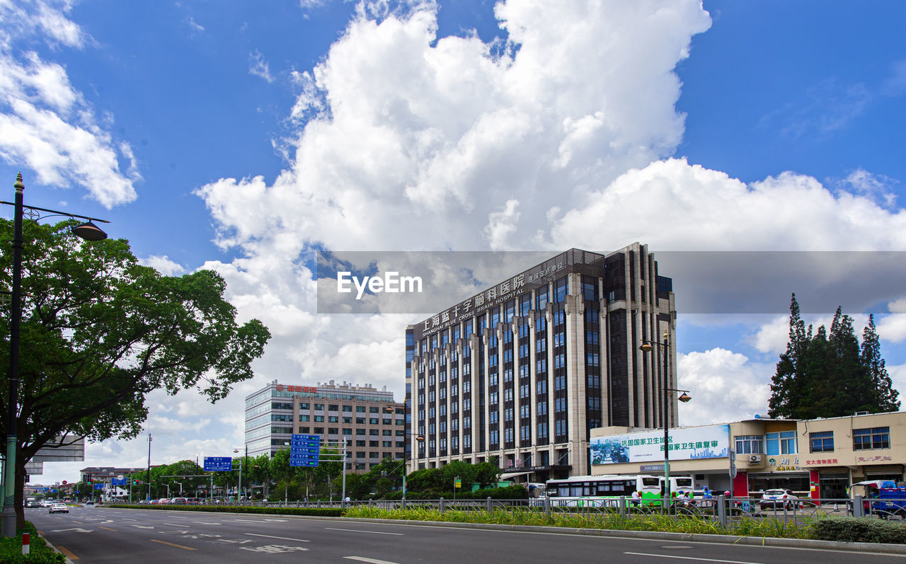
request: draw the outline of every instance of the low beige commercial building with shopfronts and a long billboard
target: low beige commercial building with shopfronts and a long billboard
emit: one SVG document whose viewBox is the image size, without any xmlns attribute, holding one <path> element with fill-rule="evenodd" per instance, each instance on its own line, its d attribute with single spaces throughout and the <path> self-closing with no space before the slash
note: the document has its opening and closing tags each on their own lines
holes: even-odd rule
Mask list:
<svg viewBox="0 0 906 564">
<path fill-rule="evenodd" d="M 593 429 L 592 473 L 662 475 L 662 444 L 662 430 Z M 805 498 L 845 498 L 853 483 L 901 481 L 904 464 L 906 412 L 670 429 L 670 474 L 737 496 L 782 488 Z"/>
</svg>

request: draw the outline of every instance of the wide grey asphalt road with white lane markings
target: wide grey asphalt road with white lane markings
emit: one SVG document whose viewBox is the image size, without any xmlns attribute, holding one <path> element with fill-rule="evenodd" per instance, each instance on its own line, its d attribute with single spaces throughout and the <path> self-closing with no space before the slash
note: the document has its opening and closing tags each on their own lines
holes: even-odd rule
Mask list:
<svg viewBox="0 0 906 564">
<path fill-rule="evenodd" d="M 141 562 L 415 562 L 526 564 L 529 562 L 695 564 L 849 564 L 854 560 L 906 563 L 892 555 L 780 549 L 705 542 L 670 542 L 444 528 L 388 521 L 298 519 L 279 515 L 73 507 L 25 518 L 75 564 Z"/>
</svg>

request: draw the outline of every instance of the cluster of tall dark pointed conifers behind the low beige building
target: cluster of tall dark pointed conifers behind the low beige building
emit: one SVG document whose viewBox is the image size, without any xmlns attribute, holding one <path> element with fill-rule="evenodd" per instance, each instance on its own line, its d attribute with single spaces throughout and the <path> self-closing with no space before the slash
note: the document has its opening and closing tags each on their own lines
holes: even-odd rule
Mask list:
<svg viewBox="0 0 906 564">
<path fill-rule="evenodd" d="M 873 318 L 863 331 L 860 350 L 853 319 L 841 308 L 834 313 L 830 332 L 821 326 L 813 334 L 811 325 L 805 329 L 793 294 L 789 340 L 771 381 L 770 416 L 814 419 L 896 411 L 897 396 L 884 368 Z"/>
</svg>

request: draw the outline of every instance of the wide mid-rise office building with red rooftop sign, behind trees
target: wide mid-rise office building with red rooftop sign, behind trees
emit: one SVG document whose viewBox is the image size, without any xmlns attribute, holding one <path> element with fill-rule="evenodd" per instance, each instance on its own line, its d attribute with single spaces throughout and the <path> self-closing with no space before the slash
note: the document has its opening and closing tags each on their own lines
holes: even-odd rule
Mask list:
<svg viewBox="0 0 906 564">
<path fill-rule="evenodd" d="M 320 435 L 323 446 L 342 450 L 346 469 L 367 472 L 384 458 L 403 458 L 405 414 L 393 393 L 366 384 L 333 380 L 317 386 L 280 384 L 276 380 L 246 396 L 248 455 L 273 456 L 289 448 L 291 435 Z"/>
</svg>

